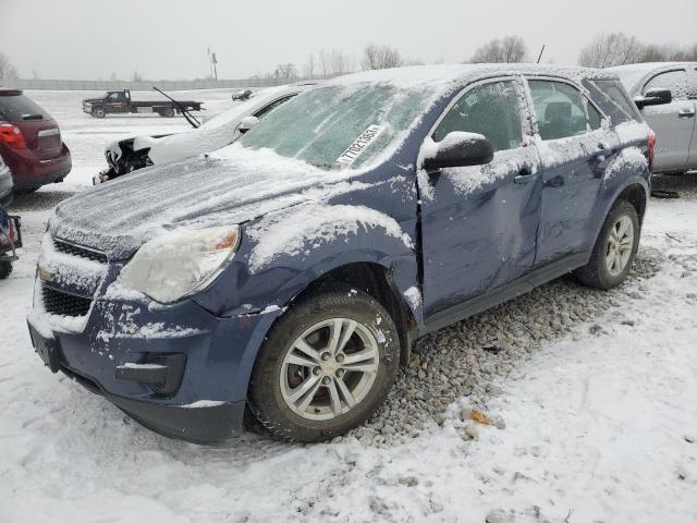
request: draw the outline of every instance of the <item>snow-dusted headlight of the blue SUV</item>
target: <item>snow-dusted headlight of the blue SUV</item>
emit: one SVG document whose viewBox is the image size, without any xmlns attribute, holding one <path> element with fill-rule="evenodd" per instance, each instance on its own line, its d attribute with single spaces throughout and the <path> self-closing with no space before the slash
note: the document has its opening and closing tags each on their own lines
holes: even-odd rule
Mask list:
<svg viewBox="0 0 697 523">
<path fill-rule="evenodd" d="M 208 287 L 240 245 L 240 226 L 174 231 L 143 246 L 121 271 L 123 287 L 172 303 Z"/>
</svg>

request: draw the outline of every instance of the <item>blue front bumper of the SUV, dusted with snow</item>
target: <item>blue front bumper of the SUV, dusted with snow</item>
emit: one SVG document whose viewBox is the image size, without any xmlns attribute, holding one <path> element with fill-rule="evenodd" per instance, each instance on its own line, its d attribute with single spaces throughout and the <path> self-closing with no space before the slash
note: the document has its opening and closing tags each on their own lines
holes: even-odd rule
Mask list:
<svg viewBox="0 0 697 523">
<path fill-rule="evenodd" d="M 42 284 L 37 283 L 35 294 L 41 293 Z M 191 300 L 164 306 L 98 297 L 84 327 L 71 331 L 36 300 L 29 333 L 51 370 L 64 373 L 170 437 L 217 443 L 244 430 L 249 375 L 276 315 L 218 318 Z M 123 372 L 147 368 L 148 362 L 167 355 L 185 358 L 175 390 L 160 393 L 157 385 Z"/>
</svg>

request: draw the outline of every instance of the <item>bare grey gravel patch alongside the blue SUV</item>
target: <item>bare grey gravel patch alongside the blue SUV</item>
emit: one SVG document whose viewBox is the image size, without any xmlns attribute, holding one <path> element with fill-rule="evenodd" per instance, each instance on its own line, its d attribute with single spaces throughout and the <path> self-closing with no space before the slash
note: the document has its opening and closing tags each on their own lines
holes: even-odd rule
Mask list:
<svg viewBox="0 0 697 523">
<path fill-rule="evenodd" d="M 420 339 L 383 406 L 347 437 L 371 446 L 404 442 L 428 424 L 442 423 L 451 415 L 449 405 L 461 398 L 486 412 L 487 401 L 502 393 L 497 382 L 545 344 L 580 337 L 583 329 L 591 336 L 602 333 L 603 326 L 594 320 L 611 308 L 616 309 L 616 323 L 629 321 L 622 304 L 641 297 L 662 260 L 658 250 L 643 247 L 627 281 L 617 289 L 589 289 L 566 276 Z M 503 419 L 490 422 L 505 426 Z M 476 429 L 462 436 L 474 439 Z"/>
</svg>

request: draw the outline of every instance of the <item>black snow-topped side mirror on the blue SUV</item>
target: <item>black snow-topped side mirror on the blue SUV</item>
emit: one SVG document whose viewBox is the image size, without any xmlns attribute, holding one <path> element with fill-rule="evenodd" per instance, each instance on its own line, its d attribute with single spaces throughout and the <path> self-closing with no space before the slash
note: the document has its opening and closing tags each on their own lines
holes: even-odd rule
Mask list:
<svg viewBox="0 0 697 523">
<path fill-rule="evenodd" d="M 435 144 L 424 158 L 424 169 L 435 171 L 445 167 L 484 166 L 493 159 L 493 146 L 481 134 L 449 133 Z"/>
</svg>

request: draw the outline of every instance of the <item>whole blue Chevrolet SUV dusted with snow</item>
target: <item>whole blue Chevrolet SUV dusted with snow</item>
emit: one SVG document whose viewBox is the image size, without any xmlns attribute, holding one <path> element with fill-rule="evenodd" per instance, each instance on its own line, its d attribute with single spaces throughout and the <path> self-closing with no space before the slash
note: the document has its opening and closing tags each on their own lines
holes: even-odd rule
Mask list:
<svg viewBox="0 0 697 523">
<path fill-rule="evenodd" d="M 33 344 L 169 436 L 222 441 L 246 411 L 284 440 L 332 438 L 420 336 L 567 272 L 622 283 L 653 142 L 596 70 L 337 78 L 229 147 L 59 205 Z"/>
</svg>

